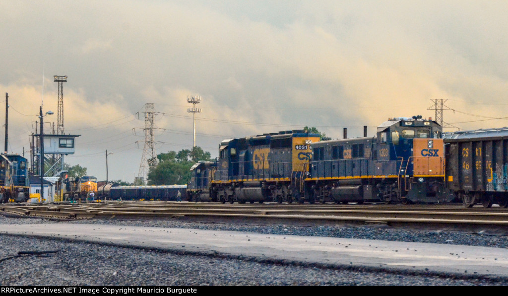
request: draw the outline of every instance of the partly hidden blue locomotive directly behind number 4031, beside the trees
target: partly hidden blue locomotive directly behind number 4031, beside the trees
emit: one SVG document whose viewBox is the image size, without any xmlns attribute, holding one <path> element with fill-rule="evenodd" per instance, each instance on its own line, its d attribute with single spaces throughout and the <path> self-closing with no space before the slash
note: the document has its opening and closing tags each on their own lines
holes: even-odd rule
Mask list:
<svg viewBox="0 0 508 296">
<path fill-rule="evenodd" d="M 189 201 L 212 201 L 211 181 L 217 171 L 217 161 L 200 161 L 190 168 L 190 182 L 187 184 Z"/>
</svg>

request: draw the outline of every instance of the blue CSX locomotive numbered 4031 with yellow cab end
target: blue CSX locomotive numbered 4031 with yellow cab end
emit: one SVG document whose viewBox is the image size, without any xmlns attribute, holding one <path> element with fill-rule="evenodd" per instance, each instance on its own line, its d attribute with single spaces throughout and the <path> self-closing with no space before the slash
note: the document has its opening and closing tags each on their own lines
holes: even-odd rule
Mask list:
<svg viewBox="0 0 508 296">
<path fill-rule="evenodd" d="M 318 134 L 293 130 L 222 141 L 211 200 L 303 201 L 299 182 L 311 158 L 310 144 L 319 139 Z"/>
</svg>

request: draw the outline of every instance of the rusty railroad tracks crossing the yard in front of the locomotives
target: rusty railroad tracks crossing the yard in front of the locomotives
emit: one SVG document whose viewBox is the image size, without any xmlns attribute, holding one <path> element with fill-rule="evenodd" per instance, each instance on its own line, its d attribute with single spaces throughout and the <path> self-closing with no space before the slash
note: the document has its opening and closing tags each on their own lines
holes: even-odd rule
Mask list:
<svg viewBox="0 0 508 296">
<path fill-rule="evenodd" d="M 0 213 L 53 219 L 262 219 L 314 223 L 455 224 L 508 226 L 501 208 L 465 209 L 462 205 L 217 204 L 168 201 L 6 204 Z"/>
</svg>

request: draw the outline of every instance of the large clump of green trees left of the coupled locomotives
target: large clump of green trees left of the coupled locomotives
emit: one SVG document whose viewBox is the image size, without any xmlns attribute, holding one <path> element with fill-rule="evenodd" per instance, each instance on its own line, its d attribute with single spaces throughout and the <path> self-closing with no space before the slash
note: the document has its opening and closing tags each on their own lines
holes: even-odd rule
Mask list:
<svg viewBox="0 0 508 296">
<path fill-rule="evenodd" d="M 148 185 L 185 185 L 190 181 L 190 167 L 198 161 L 211 160 L 201 147 L 157 155 L 159 163 L 148 172 Z"/>
</svg>

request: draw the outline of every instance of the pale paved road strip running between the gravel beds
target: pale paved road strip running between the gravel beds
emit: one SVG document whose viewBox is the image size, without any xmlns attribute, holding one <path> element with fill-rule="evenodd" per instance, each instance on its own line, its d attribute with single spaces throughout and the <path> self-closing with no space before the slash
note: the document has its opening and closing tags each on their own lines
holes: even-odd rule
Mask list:
<svg viewBox="0 0 508 296">
<path fill-rule="evenodd" d="M 508 278 L 508 249 L 250 232 L 93 224 L 0 224 L 0 233 L 245 256 L 264 261 Z"/>
</svg>

